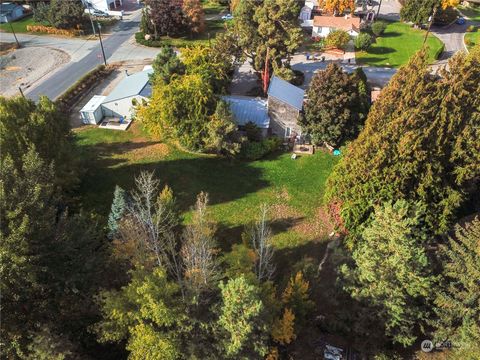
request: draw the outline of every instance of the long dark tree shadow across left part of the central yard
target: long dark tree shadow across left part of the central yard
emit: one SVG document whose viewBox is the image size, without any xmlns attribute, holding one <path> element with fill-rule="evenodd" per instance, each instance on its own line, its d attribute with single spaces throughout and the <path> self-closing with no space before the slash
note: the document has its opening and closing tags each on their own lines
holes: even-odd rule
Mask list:
<svg viewBox="0 0 480 360">
<path fill-rule="evenodd" d="M 179 153 L 165 145 L 167 153 L 131 159 L 135 151 L 160 146 L 154 141 L 122 142 L 82 146 L 85 170 L 81 178 L 79 195 L 84 210 L 102 216 L 108 215 L 115 185 L 125 190 L 134 186 L 134 178 L 141 171 L 154 171 L 161 186 L 169 185 L 180 211 L 187 211 L 195 203 L 197 194 L 209 194 L 210 205 L 240 199 L 270 186 L 262 178 L 262 169 L 249 162 L 230 160 L 218 156 Z M 168 153 L 171 151 L 171 153 Z M 278 154 L 269 157 L 274 160 Z M 159 158 L 160 157 L 160 158 Z"/>
</svg>

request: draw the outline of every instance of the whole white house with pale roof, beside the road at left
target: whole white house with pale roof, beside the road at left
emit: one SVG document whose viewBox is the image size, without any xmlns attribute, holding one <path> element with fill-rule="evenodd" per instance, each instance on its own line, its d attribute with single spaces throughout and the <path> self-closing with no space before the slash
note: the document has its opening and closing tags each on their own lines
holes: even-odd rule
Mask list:
<svg viewBox="0 0 480 360">
<path fill-rule="evenodd" d="M 150 68 L 127 75 L 108 96 L 95 95 L 80 110 L 84 124 L 98 124 L 104 117 L 131 119 L 136 103 L 147 101 L 152 95 Z"/>
</svg>

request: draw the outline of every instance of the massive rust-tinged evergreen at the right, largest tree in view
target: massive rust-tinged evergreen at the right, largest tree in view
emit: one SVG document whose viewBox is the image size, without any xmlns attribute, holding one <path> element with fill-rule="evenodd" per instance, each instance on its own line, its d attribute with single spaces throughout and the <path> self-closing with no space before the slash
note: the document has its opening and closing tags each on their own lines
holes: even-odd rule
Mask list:
<svg viewBox="0 0 480 360">
<path fill-rule="evenodd" d="M 480 161 L 480 54 L 459 54 L 434 77 L 426 52 L 400 68 L 373 105 L 364 130 L 327 182 L 350 233 L 373 204 L 399 198 L 426 204 L 427 225 L 442 233 L 474 194 Z"/>
</svg>

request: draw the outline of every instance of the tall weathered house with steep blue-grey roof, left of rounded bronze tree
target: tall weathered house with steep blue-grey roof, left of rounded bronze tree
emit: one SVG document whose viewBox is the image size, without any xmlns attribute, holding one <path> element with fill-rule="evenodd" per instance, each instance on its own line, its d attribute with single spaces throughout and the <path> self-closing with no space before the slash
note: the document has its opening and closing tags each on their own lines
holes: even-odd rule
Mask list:
<svg viewBox="0 0 480 360">
<path fill-rule="evenodd" d="M 273 135 L 290 138 L 302 133 L 298 118 L 304 96 L 305 90 L 273 76 L 268 87 L 268 115 Z"/>
</svg>

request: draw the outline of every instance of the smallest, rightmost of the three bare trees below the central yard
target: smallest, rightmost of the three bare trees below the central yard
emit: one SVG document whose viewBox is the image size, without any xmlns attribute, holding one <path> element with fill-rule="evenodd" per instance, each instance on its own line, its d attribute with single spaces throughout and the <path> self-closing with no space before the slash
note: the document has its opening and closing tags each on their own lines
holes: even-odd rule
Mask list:
<svg viewBox="0 0 480 360">
<path fill-rule="evenodd" d="M 255 274 L 260 281 L 270 280 L 274 271 L 272 232 L 267 224 L 268 207 L 263 204 L 260 207 L 260 218 L 250 230 L 252 247 L 257 255 Z"/>
</svg>

